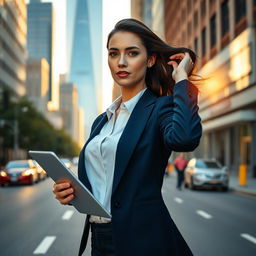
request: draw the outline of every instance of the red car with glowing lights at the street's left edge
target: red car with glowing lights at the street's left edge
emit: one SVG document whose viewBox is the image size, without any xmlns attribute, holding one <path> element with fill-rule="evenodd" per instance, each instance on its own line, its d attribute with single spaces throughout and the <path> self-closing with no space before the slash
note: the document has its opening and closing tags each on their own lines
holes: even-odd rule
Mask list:
<svg viewBox="0 0 256 256">
<path fill-rule="evenodd" d="M 39 181 L 37 168 L 33 160 L 9 161 L 0 172 L 0 185 L 33 184 Z"/>
</svg>

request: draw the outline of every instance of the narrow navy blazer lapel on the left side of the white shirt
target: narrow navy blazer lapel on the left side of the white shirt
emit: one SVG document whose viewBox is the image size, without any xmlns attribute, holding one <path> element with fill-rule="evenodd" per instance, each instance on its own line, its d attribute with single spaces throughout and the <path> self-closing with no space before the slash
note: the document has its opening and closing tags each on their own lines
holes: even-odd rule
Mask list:
<svg viewBox="0 0 256 256">
<path fill-rule="evenodd" d="M 78 174 L 79 174 L 79 179 L 83 182 L 83 184 L 92 192 L 92 187 L 89 182 L 86 169 L 85 169 L 85 164 L 84 164 L 84 151 L 88 143 L 100 133 L 100 130 L 104 126 L 104 124 L 108 121 L 107 114 L 105 113 L 102 117 L 102 119 L 99 121 L 98 124 L 96 124 L 96 127 L 92 130 L 89 139 L 85 143 L 82 151 L 80 152 L 80 157 L 79 157 L 79 163 L 78 163 Z"/>
</svg>

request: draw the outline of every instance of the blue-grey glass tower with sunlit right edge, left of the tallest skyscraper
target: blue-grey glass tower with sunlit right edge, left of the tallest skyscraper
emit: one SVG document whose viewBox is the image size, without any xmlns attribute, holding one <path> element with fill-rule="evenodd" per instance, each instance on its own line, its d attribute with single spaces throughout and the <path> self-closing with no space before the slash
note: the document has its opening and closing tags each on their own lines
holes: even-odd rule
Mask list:
<svg viewBox="0 0 256 256">
<path fill-rule="evenodd" d="M 31 0 L 27 5 L 28 14 L 28 54 L 41 60 L 45 58 L 50 66 L 49 72 L 49 106 L 50 110 L 59 108 L 59 83 L 54 78 L 54 29 L 55 16 L 52 3 Z"/>
</svg>

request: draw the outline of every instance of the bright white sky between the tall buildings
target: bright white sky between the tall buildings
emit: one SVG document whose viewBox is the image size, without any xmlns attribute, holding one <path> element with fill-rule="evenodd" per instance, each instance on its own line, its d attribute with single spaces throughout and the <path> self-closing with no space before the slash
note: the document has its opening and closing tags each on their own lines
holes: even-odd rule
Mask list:
<svg viewBox="0 0 256 256">
<path fill-rule="evenodd" d="M 56 34 L 55 34 L 55 67 L 56 74 L 66 73 L 67 71 L 67 56 L 66 56 L 66 1 L 73 0 L 41 0 L 42 2 L 52 2 L 54 4 L 56 18 Z M 102 0 L 102 61 L 99 60 L 99 55 L 93 54 L 93 66 L 95 76 L 98 65 L 102 65 L 102 77 L 98 81 L 104 81 L 102 90 L 98 90 L 100 99 L 102 100 L 99 112 L 103 112 L 111 104 L 112 101 L 112 86 L 113 80 L 107 65 L 107 50 L 106 41 L 108 33 L 113 29 L 115 23 L 123 18 L 130 17 L 131 7 L 130 0 Z M 29 0 L 26 0 L 28 3 Z M 89 1 L 90 3 L 91 1 Z M 92 2 L 91 2 L 92 3 Z M 93 6 L 91 6 L 93 9 Z M 95 39 L 94 39 L 95 40 Z M 95 45 L 95 44 L 93 44 Z M 95 52 L 95 49 L 93 49 Z M 100 70 L 100 69 L 99 69 Z M 96 79 L 97 80 L 97 79 Z"/>
</svg>

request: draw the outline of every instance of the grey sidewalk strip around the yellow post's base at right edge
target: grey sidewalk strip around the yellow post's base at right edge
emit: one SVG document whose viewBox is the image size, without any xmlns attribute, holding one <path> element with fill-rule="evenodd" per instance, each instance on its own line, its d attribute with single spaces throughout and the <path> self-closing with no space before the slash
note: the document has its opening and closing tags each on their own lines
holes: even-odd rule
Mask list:
<svg viewBox="0 0 256 256">
<path fill-rule="evenodd" d="M 247 178 L 247 185 L 240 186 L 238 176 L 230 176 L 229 187 L 234 192 L 256 196 L 256 178 Z"/>
</svg>

